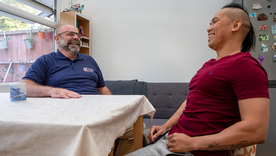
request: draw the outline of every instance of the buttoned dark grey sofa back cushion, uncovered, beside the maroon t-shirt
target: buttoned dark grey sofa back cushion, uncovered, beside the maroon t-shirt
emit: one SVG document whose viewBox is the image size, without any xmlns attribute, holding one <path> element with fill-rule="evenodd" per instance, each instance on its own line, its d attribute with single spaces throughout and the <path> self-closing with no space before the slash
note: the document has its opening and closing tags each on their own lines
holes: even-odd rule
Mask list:
<svg viewBox="0 0 276 156">
<path fill-rule="evenodd" d="M 186 100 L 189 83 L 147 83 L 147 98 L 156 109 L 154 119 L 170 119 Z M 144 118 L 150 118 L 144 115 Z"/>
</svg>

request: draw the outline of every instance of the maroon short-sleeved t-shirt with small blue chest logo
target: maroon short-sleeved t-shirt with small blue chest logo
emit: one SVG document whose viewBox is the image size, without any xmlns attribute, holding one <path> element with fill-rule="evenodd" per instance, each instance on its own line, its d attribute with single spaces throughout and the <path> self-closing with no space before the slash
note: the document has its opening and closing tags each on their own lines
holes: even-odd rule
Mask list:
<svg viewBox="0 0 276 156">
<path fill-rule="evenodd" d="M 206 62 L 190 82 L 186 109 L 172 133 L 216 134 L 241 121 L 238 100 L 269 98 L 267 73 L 249 52 Z M 211 140 L 215 141 L 215 140 Z M 207 147 L 206 147 L 207 148 Z M 195 156 L 224 156 L 226 151 L 191 151 Z"/>
</svg>

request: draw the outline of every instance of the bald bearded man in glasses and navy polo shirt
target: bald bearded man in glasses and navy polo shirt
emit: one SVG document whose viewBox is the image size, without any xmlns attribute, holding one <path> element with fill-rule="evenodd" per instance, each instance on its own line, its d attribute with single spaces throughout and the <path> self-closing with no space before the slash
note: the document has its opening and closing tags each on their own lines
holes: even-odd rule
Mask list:
<svg viewBox="0 0 276 156">
<path fill-rule="evenodd" d="M 80 98 L 80 94 L 111 95 L 96 61 L 80 54 L 81 34 L 72 25 L 57 29 L 57 52 L 39 57 L 28 69 L 27 97 Z"/>
</svg>

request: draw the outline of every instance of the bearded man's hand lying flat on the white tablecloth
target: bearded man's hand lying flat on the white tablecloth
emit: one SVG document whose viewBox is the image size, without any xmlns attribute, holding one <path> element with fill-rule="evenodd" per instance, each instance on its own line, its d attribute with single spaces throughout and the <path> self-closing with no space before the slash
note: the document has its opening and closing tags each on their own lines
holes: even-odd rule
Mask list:
<svg viewBox="0 0 276 156">
<path fill-rule="evenodd" d="M 63 88 L 52 88 L 50 90 L 50 95 L 52 98 L 81 98 L 82 96 L 76 92 L 66 90 Z"/>
</svg>

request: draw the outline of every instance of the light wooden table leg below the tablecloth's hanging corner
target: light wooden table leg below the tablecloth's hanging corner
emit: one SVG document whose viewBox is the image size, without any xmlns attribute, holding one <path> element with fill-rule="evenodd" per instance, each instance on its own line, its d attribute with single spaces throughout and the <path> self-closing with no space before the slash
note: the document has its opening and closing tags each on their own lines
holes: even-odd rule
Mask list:
<svg viewBox="0 0 276 156">
<path fill-rule="evenodd" d="M 144 119 L 143 115 L 139 116 L 137 121 L 133 124 L 133 135 L 134 135 L 134 150 L 141 149 L 143 147 L 144 138 Z"/>
</svg>

